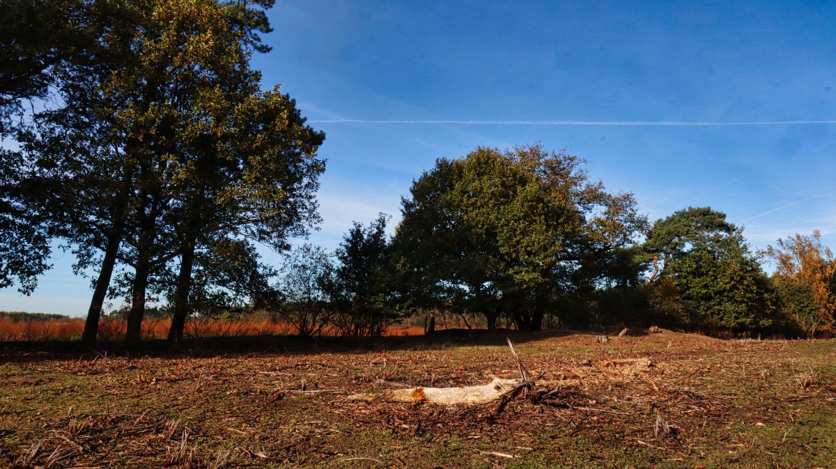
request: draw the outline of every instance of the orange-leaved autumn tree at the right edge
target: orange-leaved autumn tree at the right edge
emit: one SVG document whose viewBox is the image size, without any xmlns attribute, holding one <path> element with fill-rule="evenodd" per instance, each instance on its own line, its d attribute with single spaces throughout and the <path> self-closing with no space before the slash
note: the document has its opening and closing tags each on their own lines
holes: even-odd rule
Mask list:
<svg viewBox="0 0 836 469">
<path fill-rule="evenodd" d="M 775 260 L 775 280 L 784 313 L 808 336 L 833 327 L 836 314 L 836 263 L 833 253 L 822 245 L 821 233 L 794 235 L 768 246 L 766 254 Z"/>
</svg>

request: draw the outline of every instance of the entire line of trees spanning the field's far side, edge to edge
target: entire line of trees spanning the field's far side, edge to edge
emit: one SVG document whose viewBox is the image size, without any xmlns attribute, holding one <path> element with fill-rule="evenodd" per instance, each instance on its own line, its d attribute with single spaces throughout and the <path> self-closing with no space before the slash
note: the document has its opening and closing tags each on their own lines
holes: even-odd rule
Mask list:
<svg viewBox="0 0 836 469">
<path fill-rule="evenodd" d="M 542 145 L 436 160 L 392 237 L 380 214 L 334 252 L 289 250 L 321 221 L 324 134 L 251 67 L 272 5 L 0 4 L 0 137 L 13 142 L 0 149 L 0 288 L 31 293 L 59 240 L 92 275 L 87 341 L 109 300 L 126 340 L 165 316 L 175 344 L 191 315 L 254 310 L 301 335 L 380 335 L 430 315 L 488 329 L 833 328 L 836 263 L 818 232 L 753 252 L 709 207 L 650 223 L 632 194 Z M 257 244 L 286 262 L 264 265 Z"/>
</svg>

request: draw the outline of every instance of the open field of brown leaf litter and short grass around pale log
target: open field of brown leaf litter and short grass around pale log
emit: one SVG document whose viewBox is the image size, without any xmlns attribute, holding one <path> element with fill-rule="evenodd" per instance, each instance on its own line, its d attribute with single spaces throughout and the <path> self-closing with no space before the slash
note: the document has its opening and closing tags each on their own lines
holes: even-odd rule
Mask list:
<svg viewBox="0 0 836 469">
<path fill-rule="evenodd" d="M 379 380 L 481 385 L 516 371 L 505 335 L 356 347 L 0 356 L 0 466 L 832 467 L 836 341 L 665 331 L 513 334 L 553 399 L 441 407 L 363 402 Z M 263 346 L 262 348 L 266 348 Z M 228 349 L 227 349 L 228 350 Z M 652 366 L 607 366 L 649 357 Z M 299 392 L 299 391 L 317 392 Z"/>
</svg>

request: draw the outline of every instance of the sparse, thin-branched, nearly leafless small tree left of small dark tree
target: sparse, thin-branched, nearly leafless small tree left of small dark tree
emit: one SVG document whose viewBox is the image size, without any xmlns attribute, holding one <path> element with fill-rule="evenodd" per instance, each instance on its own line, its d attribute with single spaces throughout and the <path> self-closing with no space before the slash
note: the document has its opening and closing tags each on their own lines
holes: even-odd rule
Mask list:
<svg viewBox="0 0 836 469">
<path fill-rule="evenodd" d="M 331 324 L 334 309 L 329 287 L 333 275 L 334 264 L 321 247 L 304 244 L 289 253 L 279 280 L 280 311 L 299 335 L 321 335 Z"/>
</svg>

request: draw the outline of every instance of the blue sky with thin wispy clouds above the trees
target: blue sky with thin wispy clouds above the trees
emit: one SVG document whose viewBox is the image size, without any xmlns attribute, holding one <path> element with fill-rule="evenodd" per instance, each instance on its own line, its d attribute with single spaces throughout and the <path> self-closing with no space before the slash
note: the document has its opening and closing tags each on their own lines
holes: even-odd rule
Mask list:
<svg viewBox="0 0 836 469">
<path fill-rule="evenodd" d="M 396 222 L 436 158 L 535 142 L 588 159 L 651 219 L 710 205 L 755 248 L 816 228 L 836 248 L 836 123 L 809 124 L 836 121 L 834 3 L 280 0 L 269 15 L 265 88 L 327 134 L 311 240 L 329 249 L 353 219 Z M 84 313 L 71 264 L 59 253 L 30 298 L 0 290 L 0 310 Z"/>
</svg>

